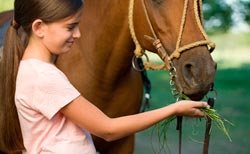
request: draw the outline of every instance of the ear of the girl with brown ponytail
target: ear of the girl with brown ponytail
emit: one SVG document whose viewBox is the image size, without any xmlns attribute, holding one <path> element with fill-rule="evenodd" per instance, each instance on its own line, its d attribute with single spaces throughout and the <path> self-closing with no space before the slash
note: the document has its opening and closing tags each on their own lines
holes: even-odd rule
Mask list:
<svg viewBox="0 0 250 154">
<path fill-rule="evenodd" d="M 34 35 L 36 35 L 39 38 L 43 38 L 44 30 L 45 30 L 44 26 L 45 26 L 45 23 L 41 19 L 36 19 L 32 23 L 32 31 L 33 31 Z"/>
</svg>

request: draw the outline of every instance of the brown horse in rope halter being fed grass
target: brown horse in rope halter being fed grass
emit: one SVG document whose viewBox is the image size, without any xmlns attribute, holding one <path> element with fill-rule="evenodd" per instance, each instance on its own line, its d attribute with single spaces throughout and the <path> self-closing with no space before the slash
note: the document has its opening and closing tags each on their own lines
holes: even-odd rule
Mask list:
<svg viewBox="0 0 250 154">
<path fill-rule="evenodd" d="M 108 116 L 140 111 L 143 70 L 135 65 L 145 56 L 145 68 L 156 68 L 145 50 L 158 54 L 162 68 L 174 74 L 179 94 L 200 100 L 212 86 L 214 44 L 203 29 L 201 0 L 85 0 L 81 18 L 82 37 L 55 64 Z M 134 135 L 93 140 L 101 154 L 133 153 Z"/>
</svg>

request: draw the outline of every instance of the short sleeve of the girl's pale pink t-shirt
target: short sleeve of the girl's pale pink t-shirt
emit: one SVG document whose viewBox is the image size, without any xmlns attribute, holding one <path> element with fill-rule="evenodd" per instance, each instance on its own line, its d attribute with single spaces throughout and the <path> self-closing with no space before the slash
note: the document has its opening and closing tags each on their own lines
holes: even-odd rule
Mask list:
<svg viewBox="0 0 250 154">
<path fill-rule="evenodd" d="M 33 108 L 51 119 L 61 108 L 69 104 L 80 93 L 59 70 L 40 73 L 34 88 Z"/>
</svg>

